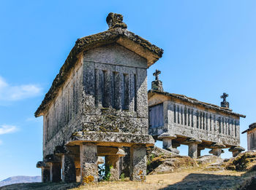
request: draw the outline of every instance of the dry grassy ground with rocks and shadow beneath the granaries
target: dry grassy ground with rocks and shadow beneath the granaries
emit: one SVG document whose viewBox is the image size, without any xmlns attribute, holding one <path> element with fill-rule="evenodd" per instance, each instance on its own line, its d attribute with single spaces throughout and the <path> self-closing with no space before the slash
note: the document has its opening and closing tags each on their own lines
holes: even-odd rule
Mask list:
<svg viewBox="0 0 256 190">
<path fill-rule="evenodd" d="M 146 182 L 108 181 L 79 186 L 78 183 L 21 183 L 6 189 L 256 189 L 256 152 L 245 152 L 232 159 L 204 156 L 181 157 L 170 152 L 148 149 Z"/>
</svg>

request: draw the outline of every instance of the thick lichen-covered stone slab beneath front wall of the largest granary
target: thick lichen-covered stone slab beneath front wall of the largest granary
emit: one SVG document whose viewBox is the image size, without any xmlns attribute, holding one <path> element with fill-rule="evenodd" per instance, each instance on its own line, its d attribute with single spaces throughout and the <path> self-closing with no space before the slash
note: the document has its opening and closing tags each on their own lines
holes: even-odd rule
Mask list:
<svg viewBox="0 0 256 190">
<path fill-rule="evenodd" d="M 66 146 L 80 145 L 80 143 L 96 143 L 97 146 L 132 146 L 142 144 L 154 145 L 154 138 L 151 135 L 131 134 L 125 132 L 74 132 L 71 140 Z"/>
</svg>

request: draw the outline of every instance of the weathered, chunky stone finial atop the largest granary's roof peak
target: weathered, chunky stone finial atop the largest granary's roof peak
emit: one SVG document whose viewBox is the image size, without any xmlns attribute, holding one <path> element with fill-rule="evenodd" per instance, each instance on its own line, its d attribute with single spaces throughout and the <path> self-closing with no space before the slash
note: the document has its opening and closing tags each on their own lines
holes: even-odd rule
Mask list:
<svg viewBox="0 0 256 190">
<path fill-rule="evenodd" d="M 108 30 L 113 28 L 124 28 L 124 29 L 127 28 L 127 24 L 123 23 L 123 15 L 110 12 L 108 14 L 106 21 L 109 27 Z"/>
</svg>

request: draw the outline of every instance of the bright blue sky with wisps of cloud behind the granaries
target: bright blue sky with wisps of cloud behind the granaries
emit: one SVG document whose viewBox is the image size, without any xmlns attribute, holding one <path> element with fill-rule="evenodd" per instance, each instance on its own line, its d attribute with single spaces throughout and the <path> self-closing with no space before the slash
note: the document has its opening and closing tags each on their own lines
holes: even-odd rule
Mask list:
<svg viewBox="0 0 256 190">
<path fill-rule="evenodd" d="M 236 0 L 0 1 L 0 180 L 40 175 L 42 118 L 34 111 L 76 39 L 107 30 L 109 12 L 165 50 L 148 69 L 148 88 L 158 68 L 167 92 L 217 105 L 227 92 L 246 130 L 256 122 L 255 9 L 256 1 Z"/>
</svg>

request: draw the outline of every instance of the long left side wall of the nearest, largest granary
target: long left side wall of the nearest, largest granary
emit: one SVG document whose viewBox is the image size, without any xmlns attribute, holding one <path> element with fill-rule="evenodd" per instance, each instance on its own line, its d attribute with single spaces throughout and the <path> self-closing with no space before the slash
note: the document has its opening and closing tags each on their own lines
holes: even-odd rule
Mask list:
<svg viewBox="0 0 256 190">
<path fill-rule="evenodd" d="M 57 98 L 50 105 L 48 113 L 43 116 L 43 155 L 53 154 L 55 146 L 67 141 L 81 129 L 81 105 L 83 99 L 83 67 L 79 60 Z"/>
</svg>

